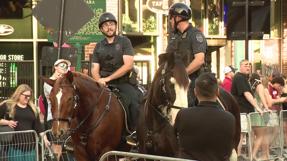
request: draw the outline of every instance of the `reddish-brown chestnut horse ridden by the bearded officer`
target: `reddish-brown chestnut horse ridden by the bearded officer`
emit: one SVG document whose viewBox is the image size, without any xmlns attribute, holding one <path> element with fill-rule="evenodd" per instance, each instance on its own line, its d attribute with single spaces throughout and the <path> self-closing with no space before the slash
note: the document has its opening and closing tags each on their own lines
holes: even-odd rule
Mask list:
<svg viewBox="0 0 287 161">
<path fill-rule="evenodd" d="M 120 104 L 109 89 L 79 72 L 68 71 L 57 80 L 41 78 L 53 86 L 52 134 L 63 139 L 71 133 L 77 160 L 99 160 L 108 151 L 130 150 L 126 143 L 120 146 L 126 128 Z M 73 118 L 77 127 L 71 126 Z"/>
</svg>

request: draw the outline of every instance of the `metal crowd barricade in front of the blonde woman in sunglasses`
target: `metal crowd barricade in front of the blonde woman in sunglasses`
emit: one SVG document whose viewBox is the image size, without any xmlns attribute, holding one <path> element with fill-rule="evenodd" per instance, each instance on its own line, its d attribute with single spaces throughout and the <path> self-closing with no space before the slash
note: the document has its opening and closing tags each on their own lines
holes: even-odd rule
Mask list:
<svg viewBox="0 0 287 161">
<path fill-rule="evenodd" d="M 1 132 L 1 140 L 12 138 L 11 142 L 0 142 L 0 160 L 38 161 L 38 135 L 34 130 Z M 14 140 L 18 140 L 15 143 Z M 21 150 L 21 151 L 20 151 Z"/>
</svg>

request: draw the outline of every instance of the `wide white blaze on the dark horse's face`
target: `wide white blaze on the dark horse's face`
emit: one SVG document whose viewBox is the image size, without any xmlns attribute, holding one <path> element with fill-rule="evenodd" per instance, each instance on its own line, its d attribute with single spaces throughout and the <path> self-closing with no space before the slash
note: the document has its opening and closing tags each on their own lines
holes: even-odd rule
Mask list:
<svg viewBox="0 0 287 161">
<path fill-rule="evenodd" d="M 188 100 L 187 100 L 187 89 L 180 88 L 176 80 L 172 77 L 170 81 L 174 84 L 174 90 L 176 92 L 176 100 L 174 101 L 174 106 L 182 107 L 182 108 L 188 108 Z M 173 126 L 174 121 L 176 119 L 176 115 L 179 109 L 172 108 L 171 114 L 172 118 L 170 120 L 170 124 Z"/>
</svg>

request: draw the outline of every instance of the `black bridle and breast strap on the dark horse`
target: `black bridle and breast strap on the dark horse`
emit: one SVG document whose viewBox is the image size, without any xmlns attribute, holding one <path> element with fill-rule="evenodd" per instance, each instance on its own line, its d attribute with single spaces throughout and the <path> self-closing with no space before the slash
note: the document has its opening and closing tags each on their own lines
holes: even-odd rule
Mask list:
<svg viewBox="0 0 287 161">
<path fill-rule="evenodd" d="M 154 107 L 152 106 L 152 104 L 151 104 L 150 102 L 148 102 L 148 99 L 146 100 L 146 103 L 144 104 L 144 108 L 143 108 L 143 122 L 144 122 L 145 128 L 146 128 L 146 130 L 147 130 L 147 132 L 148 132 L 148 134 L 147 134 L 147 135 L 148 135 L 148 143 L 146 143 L 146 147 L 148 147 L 148 148 L 151 148 L 151 147 L 152 147 L 152 135 L 155 134 L 156 132 L 159 132 L 161 129 L 164 128 L 165 125 L 167 125 L 167 124 L 170 122 L 170 120 L 171 120 L 171 109 L 172 109 L 172 108 L 181 109 L 181 107 L 171 105 L 171 104 L 170 104 L 170 101 L 169 101 L 169 99 L 168 99 L 168 93 L 167 93 L 166 88 L 165 88 L 164 74 L 165 74 L 165 73 L 168 73 L 168 72 L 172 72 L 173 69 L 166 70 L 167 64 L 168 64 L 168 63 L 166 62 L 165 65 L 164 65 L 164 69 L 162 69 L 162 71 L 161 71 L 161 79 L 160 79 L 160 82 L 159 82 L 159 84 L 161 85 L 161 88 L 162 88 L 162 90 L 163 90 L 163 92 L 164 92 L 165 98 L 166 98 L 166 100 L 165 100 L 166 105 L 168 106 L 167 109 L 166 109 L 166 110 L 167 110 L 167 111 L 166 111 L 167 116 L 165 116 L 162 112 L 160 112 L 160 111 L 158 111 L 156 108 L 154 108 Z M 157 128 L 157 129 L 154 130 L 154 131 L 148 130 L 148 125 L 147 125 L 147 123 L 146 123 L 145 115 L 146 115 L 147 103 L 148 103 L 150 106 L 152 106 L 152 108 L 153 108 L 154 110 L 156 110 L 156 112 L 157 112 L 158 114 L 160 114 L 160 116 L 161 116 L 162 118 L 164 118 L 164 119 L 166 120 L 166 121 L 164 121 L 163 124 L 160 125 L 159 128 Z"/>
</svg>

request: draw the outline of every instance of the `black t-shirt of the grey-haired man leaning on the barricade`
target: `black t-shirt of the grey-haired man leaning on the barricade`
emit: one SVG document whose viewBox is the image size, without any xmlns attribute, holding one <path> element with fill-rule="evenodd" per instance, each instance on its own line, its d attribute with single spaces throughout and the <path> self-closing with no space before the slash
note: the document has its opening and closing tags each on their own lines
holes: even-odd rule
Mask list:
<svg viewBox="0 0 287 161">
<path fill-rule="evenodd" d="M 250 92 L 253 96 L 251 84 L 247 76 L 240 72 L 236 73 L 232 79 L 230 92 L 239 105 L 240 113 L 249 114 L 250 112 L 255 112 L 253 105 L 244 96 L 244 92 Z"/>
</svg>

